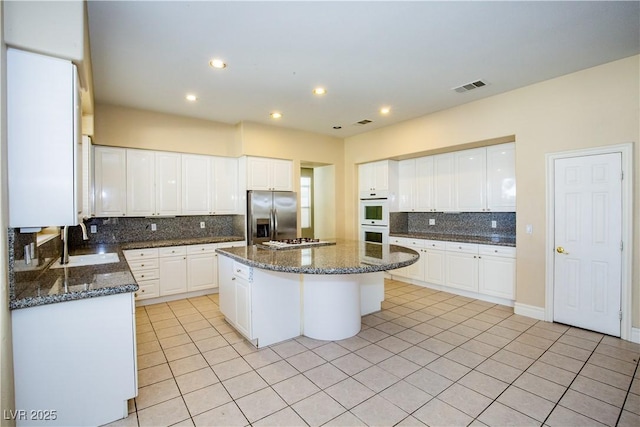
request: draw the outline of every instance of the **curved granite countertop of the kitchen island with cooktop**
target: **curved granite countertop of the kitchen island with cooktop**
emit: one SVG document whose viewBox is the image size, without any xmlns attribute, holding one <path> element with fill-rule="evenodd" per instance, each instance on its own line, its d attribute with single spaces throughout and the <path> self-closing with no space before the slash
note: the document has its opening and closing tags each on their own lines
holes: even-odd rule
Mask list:
<svg viewBox="0 0 640 427">
<path fill-rule="evenodd" d="M 373 273 L 406 267 L 420 257 L 412 249 L 354 240 L 303 249 L 271 250 L 254 245 L 216 252 L 250 267 L 299 274 Z"/>
</svg>

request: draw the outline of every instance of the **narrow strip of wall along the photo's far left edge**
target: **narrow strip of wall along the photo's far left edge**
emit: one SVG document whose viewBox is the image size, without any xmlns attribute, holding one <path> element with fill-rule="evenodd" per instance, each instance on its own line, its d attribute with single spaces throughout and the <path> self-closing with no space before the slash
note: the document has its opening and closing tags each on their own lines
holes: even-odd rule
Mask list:
<svg viewBox="0 0 640 427">
<path fill-rule="evenodd" d="M 9 260 L 7 245 L 7 115 L 6 115 L 6 48 L 3 40 L 3 6 L 0 4 L 0 408 L 15 409 L 13 390 L 13 346 L 11 345 L 11 312 L 9 311 Z M 0 425 L 15 425 L 0 418 Z"/>
</svg>

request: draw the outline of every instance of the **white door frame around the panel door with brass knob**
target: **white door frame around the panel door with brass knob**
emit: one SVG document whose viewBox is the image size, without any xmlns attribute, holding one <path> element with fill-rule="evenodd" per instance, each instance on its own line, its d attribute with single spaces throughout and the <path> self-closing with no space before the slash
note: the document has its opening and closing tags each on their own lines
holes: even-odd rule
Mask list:
<svg viewBox="0 0 640 427">
<path fill-rule="evenodd" d="M 544 320 L 553 322 L 553 289 L 555 267 L 555 160 L 593 156 L 599 154 L 621 153 L 622 155 L 622 266 L 621 301 L 622 320 L 620 338 L 632 340 L 632 284 L 633 284 L 633 143 L 623 143 L 604 147 L 547 153 L 547 209 L 546 209 L 546 248 L 545 248 L 545 315 Z"/>
</svg>

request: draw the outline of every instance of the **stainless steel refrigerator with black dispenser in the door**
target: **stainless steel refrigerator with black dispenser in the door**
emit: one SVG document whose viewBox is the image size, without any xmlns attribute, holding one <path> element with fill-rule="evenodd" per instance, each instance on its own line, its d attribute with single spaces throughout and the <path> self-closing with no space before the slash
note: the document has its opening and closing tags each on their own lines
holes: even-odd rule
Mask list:
<svg viewBox="0 0 640 427">
<path fill-rule="evenodd" d="M 247 243 L 295 239 L 298 198 L 293 191 L 247 191 Z"/>
</svg>

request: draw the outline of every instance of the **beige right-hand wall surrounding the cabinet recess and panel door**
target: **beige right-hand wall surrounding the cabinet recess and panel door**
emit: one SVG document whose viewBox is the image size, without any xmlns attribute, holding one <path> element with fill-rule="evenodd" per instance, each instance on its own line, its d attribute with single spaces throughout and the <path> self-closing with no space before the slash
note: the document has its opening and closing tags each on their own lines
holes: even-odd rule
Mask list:
<svg viewBox="0 0 640 427">
<path fill-rule="evenodd" d="M 516 139 L 517 302 L 545 306 L 545 154 L 637 142 L 640 137 L 639 56 L 548 80 L 345 140 L 348 218 L 357 233 L 355 164 L 506 135 Z M 464 95 L 461 95 L 464 96 Z M 638 163 L 638 150 L 634 153 Z M 635 192 L 640 188 L 635 176 Z M 634 211 L 634 253 L 639 252 Z M 533 234 L 524 232 L 533 225 Z M 638 267 L 633 272 L 633 325 L 640 325 Z"/>
</svg>

